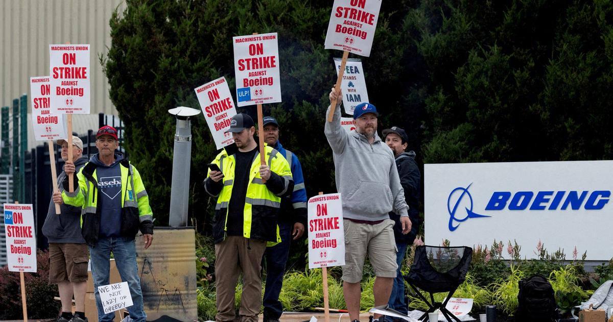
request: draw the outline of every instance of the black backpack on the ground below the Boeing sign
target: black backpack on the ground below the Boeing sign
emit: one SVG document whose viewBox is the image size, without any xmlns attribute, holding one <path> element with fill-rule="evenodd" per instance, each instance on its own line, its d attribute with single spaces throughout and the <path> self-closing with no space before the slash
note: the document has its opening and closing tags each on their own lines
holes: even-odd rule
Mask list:
<svg viewBox="0 0 613 322">
<path fill-rule="evenodd" d="M 554 288 L 547 278 L 533 275 L 519 281 L 516 321 L 555 321 L 558 318 Z"/>
</svg>

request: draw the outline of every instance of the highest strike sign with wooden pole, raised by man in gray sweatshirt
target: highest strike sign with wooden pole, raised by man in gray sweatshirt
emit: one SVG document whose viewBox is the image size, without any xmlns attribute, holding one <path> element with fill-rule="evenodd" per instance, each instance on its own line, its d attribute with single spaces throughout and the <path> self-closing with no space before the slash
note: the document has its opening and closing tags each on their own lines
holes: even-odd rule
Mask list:
<svg viewBox="0 0 613 322">
<path fill-rule="evenodd" d="M 340 90 L 349 52 L 370 56 L 381 0 L 334 0 L 326 34 L 326 49 L 343 50 L 341 70 L 335 88 Z M 328 121 L 332 121 L 336 101 L 330 106 Z"/>
</svg>

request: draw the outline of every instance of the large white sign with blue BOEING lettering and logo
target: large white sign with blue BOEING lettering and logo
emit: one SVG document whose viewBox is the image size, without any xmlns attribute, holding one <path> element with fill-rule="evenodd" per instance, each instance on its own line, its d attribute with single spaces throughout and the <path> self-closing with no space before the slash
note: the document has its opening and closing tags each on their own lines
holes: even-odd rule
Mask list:
<svg viewBox="0 0 613 322">
<path fill-rule="evenodd" d="M 514 240 L 522 258 L 574 247 L 613 257 L 613 161 L 425 164 L 425 241 L 491 245 Z"/>
</svg>

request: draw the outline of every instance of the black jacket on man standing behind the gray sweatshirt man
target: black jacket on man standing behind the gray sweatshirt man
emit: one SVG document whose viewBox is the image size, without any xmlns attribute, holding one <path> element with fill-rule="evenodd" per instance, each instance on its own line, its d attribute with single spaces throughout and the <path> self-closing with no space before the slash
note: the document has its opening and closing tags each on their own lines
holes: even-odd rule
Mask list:
<svg viewBox="0 0 613 322">
<path fill-rule="evenodd" d="M 411 219 L 411 231 L 403 235 L 400 215 L 389 213 L 389 218 L 394 220 L 394 237 L 396 242 L 412 244 L 419 232 L 419 180 L 421 172 L 415 162 L 415 152 L 408 151 L 396 157 L 396 167 L 400 177 L 400 185 L 405 191 L 405 201 L 409 206 L 409 219 Z"/>
</svg>

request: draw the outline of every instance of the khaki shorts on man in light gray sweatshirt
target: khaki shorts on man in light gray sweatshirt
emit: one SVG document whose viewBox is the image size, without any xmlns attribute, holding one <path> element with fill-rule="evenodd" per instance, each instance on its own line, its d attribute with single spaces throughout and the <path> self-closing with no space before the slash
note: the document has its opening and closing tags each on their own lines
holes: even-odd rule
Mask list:
<svg viewBox="0 0 613 322">
<path fill-rule="evenodd" d="M 396 241 L 394 220 L 386 219 L 378 224 L 362 224 L 343 219 L 345 229 L 345 266 L 343 281 L 358 283 L 362 280 L 364 259 L 368 252 L 370 264 L 379 277 L 396 277 Z"/>
</svg>

